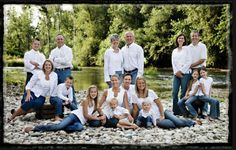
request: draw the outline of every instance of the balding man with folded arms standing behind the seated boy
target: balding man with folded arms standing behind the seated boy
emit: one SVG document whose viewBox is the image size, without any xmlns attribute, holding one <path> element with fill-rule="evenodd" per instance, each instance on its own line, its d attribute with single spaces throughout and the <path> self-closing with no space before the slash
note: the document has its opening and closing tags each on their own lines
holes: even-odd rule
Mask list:
<svg viewBox="0 0 236 150">
<path fill-rule="evenodd" d="M 71 75 L 72 69 L 72 49 L 64 44 L 64 36 L 58 34 L 56 36 L 57 47 L 54 48 L 49 56 L 49 59 L 53 62 L 55 67 L 55 72 L 58 76 L 58 84 L 64 83 L 65 79 Z M 77 106 L 74 87 L 73 88 L 73 101 L 72 103 Z M 74 108 L 71 108 L 74 110 Z"/>
</svg>

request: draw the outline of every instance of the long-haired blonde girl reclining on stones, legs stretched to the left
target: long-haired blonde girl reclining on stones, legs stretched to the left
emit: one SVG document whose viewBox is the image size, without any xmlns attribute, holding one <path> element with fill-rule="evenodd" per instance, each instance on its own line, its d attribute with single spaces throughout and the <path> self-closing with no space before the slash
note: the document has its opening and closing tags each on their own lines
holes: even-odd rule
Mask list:
<svg viewBox="0 0 236 150">
<path fill-rule="evenodd" d="M 78 109 L 73 110 L 67 117 L 65 117 L 58 124 L 38 125 L 35 127 L 26 127 L 25 132 L 29 131 L 58 131 L 65 130 L 68 133 L 81 131 L 84 129 L 83 125 L 87 122 L 89 126 L 98 127 L 105 122 L 106 117 L 94 114 L 98 109 L 98 89 L 92 85 L 88 88 L 87 96 L 82 101 Z"/>
</svg>

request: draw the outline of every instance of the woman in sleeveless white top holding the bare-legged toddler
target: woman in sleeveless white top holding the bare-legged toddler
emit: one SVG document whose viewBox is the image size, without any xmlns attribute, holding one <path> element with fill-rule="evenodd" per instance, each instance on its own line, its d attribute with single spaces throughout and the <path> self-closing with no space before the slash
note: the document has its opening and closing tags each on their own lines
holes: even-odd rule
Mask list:
<svg viewBox="0 0 236 150">
<path fill-rule="evenodd" d="M 124 107 L 128 109 L 130 112 L 127 92 L 123 88 L 120 88 L 119 77 L 117 75 L 112 75 L 111 83 L 112 83 L 112 88 L 107 89 L 103 93 L 102 98 L 99 102 L 100 109 L 106 116 L 109 116 L 109 109 L 110 109 L 109 103 L 112 98 L 116 98 L 118 100 L 118 106 Z M 128 115 L 128 118 L 129 120 L 133 119 L 133 117 L 130 114 Z M 117 124 L 117 121 L 113 119 L 110 120 L 110 122 L 111 122 L 110 125 L 106 127 L 114 127 Z"/>
</svg>

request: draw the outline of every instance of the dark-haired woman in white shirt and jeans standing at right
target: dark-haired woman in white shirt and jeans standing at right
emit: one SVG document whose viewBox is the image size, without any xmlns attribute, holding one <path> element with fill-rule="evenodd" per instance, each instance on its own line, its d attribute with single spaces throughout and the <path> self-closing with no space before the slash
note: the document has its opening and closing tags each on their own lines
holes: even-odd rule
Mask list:
<svg viewBox="0 0 236 150">
<path fill-rule="evenodd" d="M 191 53 L 186 45 L 186 37 L 184 34 L 180 34 L 176 38 L 176 46 L 172 52 L 171 62 L 174 72 L 173 79 L 173 112 L 175 115 L 180 114 L 180 109 L 178 107 L 179 101 L 179 88 L 181 87 L 180 99 L 185 96 L 187 90 L 187 84 L 191 79 Z"/>
</svg>

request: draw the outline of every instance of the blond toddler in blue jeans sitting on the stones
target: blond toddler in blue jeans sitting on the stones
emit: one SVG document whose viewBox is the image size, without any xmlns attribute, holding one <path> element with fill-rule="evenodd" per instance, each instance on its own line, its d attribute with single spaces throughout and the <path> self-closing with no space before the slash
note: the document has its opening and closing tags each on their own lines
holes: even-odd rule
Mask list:
<svg viewBox="0 0 236 150">
<path fill-rule="evenodd" d="M 151 128 L 156 126 L 156 118 L 154 112 L 151 110 L 151 101 L 145 98 L 142 102 L 142 109 L 139 111 L 136 124 L 139 127 Z"/>
</svg>

